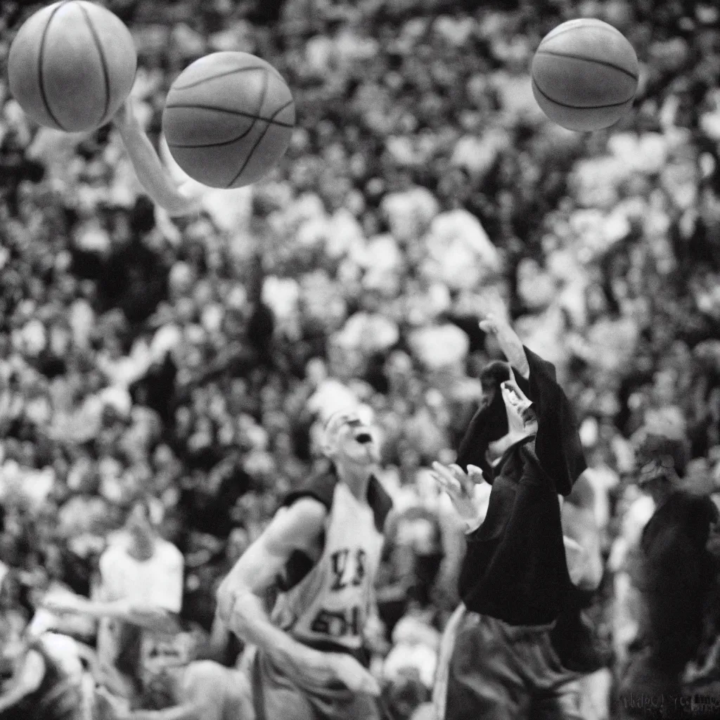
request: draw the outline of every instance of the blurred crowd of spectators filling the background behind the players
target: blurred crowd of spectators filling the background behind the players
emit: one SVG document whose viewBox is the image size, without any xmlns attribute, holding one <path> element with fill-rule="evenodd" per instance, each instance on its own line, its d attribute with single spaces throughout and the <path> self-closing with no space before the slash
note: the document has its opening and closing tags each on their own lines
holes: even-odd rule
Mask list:
<svg viewBox="0 0 720 720">
<path fill-rule="evenodd" d="M 428 467 L 451 462 L 498 357 L 477 325 L 492 311 L 555 364 L 580 418 L 606 561 L 595 620 L 620 675 L 642 640 L 630 559 L 655 508 L 635 482 L 642 440 L 680 446 L 678 487 L 720 507 L 718 6 L 104 4 L 135 38 L 135 112 L 203 211 L 168 217 L 112 126 L 39 128 L 0 80 L 6 617 L 22 625 L 59 588 L 90 595 L 149 489 L 184 554 L 181 617 L 207 636 L 223 574 L 321 462 L 318 423 L 357 402 L 400 510 L 373 667 L 408 718 L 463 542 Z M 38 7 L 3 2 L 0 57 Z M 608 131 L 563 130 L 531 94 L 534 48 L 574 17 L 611 22 L 640 61 L 634 109 Z M 251 189 L 203 192 L 161 138 L 171 82 L 217 50 L 269 60 L 297 103 L 287 155 Z M 710 610 L 704 628 L 686 675 L 711 687 Z M 91 645 L 94 628 L 69 634 Z M 614 712 L 606 698 L 593 716 Z"/>
</svg>

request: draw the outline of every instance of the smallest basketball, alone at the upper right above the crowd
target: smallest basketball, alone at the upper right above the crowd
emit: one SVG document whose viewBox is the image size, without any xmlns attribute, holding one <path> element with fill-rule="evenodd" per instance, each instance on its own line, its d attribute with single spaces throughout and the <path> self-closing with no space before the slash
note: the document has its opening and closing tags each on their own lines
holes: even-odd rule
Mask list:
<svg viewBox="0 0 720 720">
<path fill-rule="evenodd" d="M 626 37 L 602 20 L 558 25 L 532 63 L 532 88 L 543 112 L 568 130 L 600 130 L 617 122 L 637 90 L 639 67 Z"/>
</svg>

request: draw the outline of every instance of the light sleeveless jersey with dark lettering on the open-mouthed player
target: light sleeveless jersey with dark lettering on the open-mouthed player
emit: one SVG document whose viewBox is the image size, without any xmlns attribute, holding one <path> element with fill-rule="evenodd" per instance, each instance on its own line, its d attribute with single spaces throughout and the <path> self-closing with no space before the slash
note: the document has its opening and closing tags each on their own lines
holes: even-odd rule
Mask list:
<svg viewBox="0 0 720 720">
<path fill-rule="evenodd" d="M 278 596 L 274 624 L 300 642 L 359 649 L 381 551 L 372 508 L 338 482 L 320 559 L 294 588 Z"/>
</svg>

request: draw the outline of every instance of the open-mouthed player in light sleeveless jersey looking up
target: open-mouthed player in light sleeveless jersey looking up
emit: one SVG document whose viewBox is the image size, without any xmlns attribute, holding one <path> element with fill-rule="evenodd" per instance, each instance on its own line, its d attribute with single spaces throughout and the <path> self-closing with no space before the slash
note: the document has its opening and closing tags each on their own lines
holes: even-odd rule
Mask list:
<svg viewBox="0 0 720 720">
<path fill-rule="evenodd" d="M 323 445 L 330 471 L 284 499 L 217 592 L 222 621 L 256 649 L 248 660 L 256 720 L 382 716 L 364 657 L 392 508 L 375 475 L 378 431 L 358 411 L 338 410 Z"/>
</svg>

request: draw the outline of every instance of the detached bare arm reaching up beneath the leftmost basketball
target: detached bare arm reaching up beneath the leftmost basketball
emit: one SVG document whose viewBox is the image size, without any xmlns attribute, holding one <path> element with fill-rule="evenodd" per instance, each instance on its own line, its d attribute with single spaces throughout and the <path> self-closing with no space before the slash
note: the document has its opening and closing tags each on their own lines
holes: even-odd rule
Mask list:
<svg viewBox="0 0 720 720">
<path fill-rule="evenodd" d="M 199 212 L 199 200 L 181 192 L 168 176 L 153 144 L 135 117 L 131 98 L 125 101 L 112 122 L 120 133 L 140 184 L 153 202 L 167 210 L 170 215 L 193 215 Z"/>
</svg>

